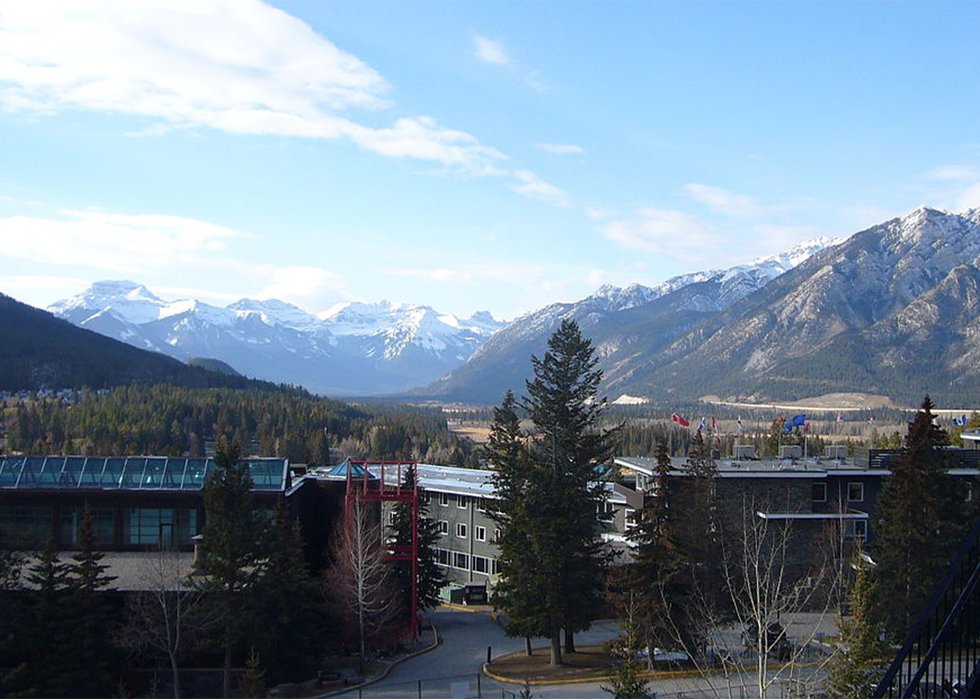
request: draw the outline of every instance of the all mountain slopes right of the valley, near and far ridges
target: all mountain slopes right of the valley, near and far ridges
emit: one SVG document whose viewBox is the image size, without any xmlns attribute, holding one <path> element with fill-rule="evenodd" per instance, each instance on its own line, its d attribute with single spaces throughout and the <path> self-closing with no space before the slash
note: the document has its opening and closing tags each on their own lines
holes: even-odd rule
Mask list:
<svg viewBox="0 0 980 699">
<path fill-rule="evenodd" d="M 860 392 L 905 405 L 925 393 L 947 404 L 980 401 L 980 209 L 916 209 L 783 274 L 745 272 L 614 294 L 629 298 L 622 308 L 609 294 L 550 306 L 498 332 L 422 393 L 499 402 L 507 388 L 523 389 L 527 356 L 541 356 L 559 320 L 574 318 L 614 400 Z"/>
</svg>

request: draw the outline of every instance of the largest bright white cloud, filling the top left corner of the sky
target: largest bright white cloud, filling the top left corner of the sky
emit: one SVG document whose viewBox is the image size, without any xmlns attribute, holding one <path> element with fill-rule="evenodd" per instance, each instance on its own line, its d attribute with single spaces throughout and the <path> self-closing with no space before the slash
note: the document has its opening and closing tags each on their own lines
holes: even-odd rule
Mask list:
<svg viewBox="0 0 980 699">
<path fill-rule="evenodd" d="M 389 107 L 374 69 L 258 0 L 48 0 L 0 13 L 0 108 L 85 110 L 159 120 L 143 133 L 348 139 L 374 153 L 495 173 L 503 154 L 434 119 L 387 128 L 352 110 Z"/>
</svg>

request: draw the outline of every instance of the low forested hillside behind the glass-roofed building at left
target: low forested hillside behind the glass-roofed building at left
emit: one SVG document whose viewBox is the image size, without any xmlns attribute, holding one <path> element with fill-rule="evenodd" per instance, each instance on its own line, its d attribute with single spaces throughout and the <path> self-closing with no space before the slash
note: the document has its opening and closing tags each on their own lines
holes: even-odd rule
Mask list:
<svg viewBox="0 0 980 699">
<path fill-rule="evenodd" d="M 129 385 L 82 400 L 17 401 L 5 409 L 8 449 L 31 454 L 202 456 L 221 436 L 255 456 L 326 465 L 338 457 L 475 465 L 471 443 L 438 410 L 353 407 L 301 389 Z"/>
</svg>

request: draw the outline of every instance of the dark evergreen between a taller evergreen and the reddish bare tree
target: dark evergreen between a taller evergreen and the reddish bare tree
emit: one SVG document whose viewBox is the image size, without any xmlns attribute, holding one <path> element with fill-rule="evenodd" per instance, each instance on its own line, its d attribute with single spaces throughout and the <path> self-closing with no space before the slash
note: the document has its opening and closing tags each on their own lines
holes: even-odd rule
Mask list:
<svg viewBox="0 0 980 699">
<path fill-rule="evenodd" d="M 312 676 L 324 647 L 326 614 L 319 585 L 303 556 L 299 522 L 276 507 L 269 557 L 251 593 L 254 657 L 278 684 Z"/>
</svg>

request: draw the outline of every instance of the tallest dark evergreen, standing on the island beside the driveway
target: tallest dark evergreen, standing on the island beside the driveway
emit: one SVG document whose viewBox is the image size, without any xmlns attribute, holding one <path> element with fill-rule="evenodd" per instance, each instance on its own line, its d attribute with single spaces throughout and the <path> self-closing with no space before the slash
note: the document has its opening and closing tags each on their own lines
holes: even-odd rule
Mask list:
<svg viewBox="0 0 980 699">
<path fill-rule="evenodd" d="M 524 407 L 534 433 L 528 474 L 517 477 L 524 503 L 511 508 L 519 517 L 506 525 L 517 529 L 518 541 L 526 540 L 536 569 L 505 567 L 504 575 L 528 575 L 509 585 L 526 585 L 536 598 L 553 665 L 561 664 L 561 632 L 566 652 L 573 652 L 574 633 L 588 628 L 602 606 L 607 558 L 598 536 L 604 493 L 596 467 L 608 457 L 611 440 L 598 424 L 606 403 L 597 400 L 602 372 L 596 362 L 592 343 L 570 320 L 548 340 L 543 358 L 531 358 L 534 378 Z"/>
</svg>

